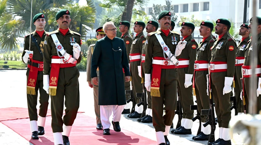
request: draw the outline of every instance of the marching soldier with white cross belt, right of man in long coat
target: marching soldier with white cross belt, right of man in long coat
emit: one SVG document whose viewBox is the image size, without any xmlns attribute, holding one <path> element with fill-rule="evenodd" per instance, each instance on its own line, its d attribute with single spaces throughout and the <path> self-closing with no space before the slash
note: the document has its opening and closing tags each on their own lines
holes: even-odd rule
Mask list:
<svg viewBox="0 0 261 145">
<path fill-rule="evenodd" d="M 160 29 L 148 34 L 145 46 L 145 87 L 152 100 L 152 120 L 158 145 L 170 144 L 167 138 L 177 107 L 177 72 L 175 64 L 185 48 L 179 35 L 171 32 L 171 13 L 162 11 L 158 16 Z M 166 114 L 163 116 L 163 105 Z M 163 117 L 162 117 L 163 116 Z"/>
</svg>

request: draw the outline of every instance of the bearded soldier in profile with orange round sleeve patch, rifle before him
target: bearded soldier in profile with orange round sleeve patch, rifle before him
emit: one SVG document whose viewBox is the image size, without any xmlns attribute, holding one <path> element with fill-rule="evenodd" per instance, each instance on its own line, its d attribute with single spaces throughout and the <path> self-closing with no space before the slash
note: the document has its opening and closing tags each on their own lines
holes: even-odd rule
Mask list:
<svg viewBox="0 0 261 145">
<path fill-rule="evenodd" d="M 230 92 L 235 73 L 236 42 L 228 33 L 230 27 L 229 20 L 224 18 L 216 20 L 215 33 L 218 38 L 211 48 L 209 81 L 212 97 L 215 101 L 219 139 L 208 144 L 214 145 L 230 145 L 232 138 L 228 124 L 231 119 Z"/>
</svg>

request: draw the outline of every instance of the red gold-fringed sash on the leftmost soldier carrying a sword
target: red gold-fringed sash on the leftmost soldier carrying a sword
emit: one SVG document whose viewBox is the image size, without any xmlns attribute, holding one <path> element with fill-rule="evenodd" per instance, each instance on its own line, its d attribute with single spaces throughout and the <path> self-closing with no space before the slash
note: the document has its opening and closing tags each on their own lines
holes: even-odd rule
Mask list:
<svg viewBox="0 0 261 145">
<path fill-rule="evenodd" d="M 43 71 L 43 66 L 44 62 L 43 61 L 37 61 L 31 59 L 31 63 L 38 63 L 39 67 L 35 67 L 32 65 L 27 65 L 27 67 L 30 69 L 29 75 L 28 75 L 28 80 L 27 80 L 27 86 L 26 86 L 26 93 L 30 95 L 36 95 L 35 92 L 35 86 L 36 86 L 36 81 L 37 81 L 37 76 L 38 76 L 38 71 Z"/>
</svg>

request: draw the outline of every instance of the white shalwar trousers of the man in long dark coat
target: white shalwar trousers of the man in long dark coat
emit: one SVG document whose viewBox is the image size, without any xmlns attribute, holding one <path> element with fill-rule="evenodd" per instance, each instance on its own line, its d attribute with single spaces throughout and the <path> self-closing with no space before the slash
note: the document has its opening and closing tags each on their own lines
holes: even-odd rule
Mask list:
<svg viewBox="0 0 261 145">
<path fill-rule="evenodd" d="M 111 127 L 110 116 L 113 112 L 113 122 L 119 122 L 121 120 L 121 113 L 125 105 L 100 105 L 100 115 L 103 129 Z"/>
</svg>

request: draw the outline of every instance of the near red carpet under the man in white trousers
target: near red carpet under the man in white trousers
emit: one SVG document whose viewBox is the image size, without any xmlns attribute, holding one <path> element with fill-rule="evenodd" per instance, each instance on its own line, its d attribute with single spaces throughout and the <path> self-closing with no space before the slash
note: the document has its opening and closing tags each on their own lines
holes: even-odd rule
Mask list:
<svg viewBox="0 0 261 145">
<path fill-rule="evenodd" d="M 1 121 L 19 135 L 34 145 L 53 145 L 53 132 L 51 129 L 51 117 L 46 118 L 45 135 L 39 136 L 39 140 L 31 139 L 29 118 L 10 121 Z M 78 113 L 72 126 L 69 137 L 71 145 L 155 145 L 156 141 L 139 136 L 127 130 L 115 132 L 111 125 L 111 135 L 104 136 L 103 130 L 96 130 L 96 120 L 84 114 Z"/>
</svg>

